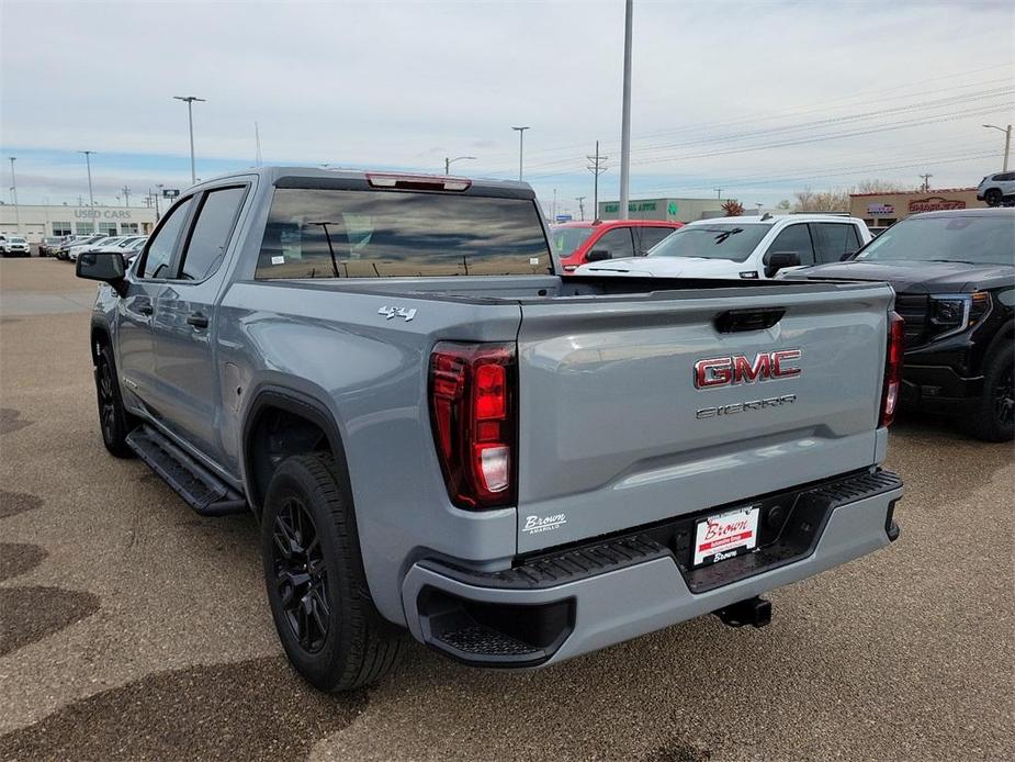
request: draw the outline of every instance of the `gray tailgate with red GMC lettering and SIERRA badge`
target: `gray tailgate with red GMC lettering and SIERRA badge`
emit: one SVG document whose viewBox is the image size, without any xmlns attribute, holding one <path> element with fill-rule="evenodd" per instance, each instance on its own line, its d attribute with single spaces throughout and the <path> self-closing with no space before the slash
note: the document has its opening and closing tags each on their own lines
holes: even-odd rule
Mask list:
<svg viewBox="0 0 1015 762">
<path fill-rule="evenodd" d="M 523 302 L 518 551 L 871 466 L 891 300 L 883 284 L 831 284 Z M 717 327 L 766 309 L 785 313 Z M 778 351 L 786 374 L 751 380 Z M 696 363 L 722 358 L 748 372 L 722 383 L 720 361 L 698 388 Z"/>
</svg>

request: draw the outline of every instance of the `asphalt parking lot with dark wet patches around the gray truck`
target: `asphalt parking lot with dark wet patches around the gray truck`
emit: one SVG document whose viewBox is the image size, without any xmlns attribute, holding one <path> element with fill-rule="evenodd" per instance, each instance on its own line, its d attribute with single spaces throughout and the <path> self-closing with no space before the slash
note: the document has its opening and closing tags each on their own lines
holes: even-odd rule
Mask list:
<svg viewBox="0 0 1015 762">
<path fill-rule="evenodd" d="M 704 617 L 515 674 L 418 646 L 324 696 L 275 639 L 253 519 L 103 449 L 93 289 L 0 261 L 0 760 L 1010 759 L 1011 445 L 903 417 L 902 537 L 774 593 L 765 629 Z"/>
</svg>

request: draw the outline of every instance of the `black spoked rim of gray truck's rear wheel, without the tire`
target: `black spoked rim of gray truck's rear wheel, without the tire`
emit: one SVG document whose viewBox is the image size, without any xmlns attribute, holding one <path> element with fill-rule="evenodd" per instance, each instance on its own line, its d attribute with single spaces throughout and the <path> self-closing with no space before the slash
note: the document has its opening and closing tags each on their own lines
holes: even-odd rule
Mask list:
<svg viewBox="0 0 1015 762">
<path fill-rule="evenodd" d="M 314 518 L 295 496 L 275 516 L 273 561 L 275 587 L 292 634 L 304 651 L 317 653 L 331 619 L 328 572 Z"/>
</svg>

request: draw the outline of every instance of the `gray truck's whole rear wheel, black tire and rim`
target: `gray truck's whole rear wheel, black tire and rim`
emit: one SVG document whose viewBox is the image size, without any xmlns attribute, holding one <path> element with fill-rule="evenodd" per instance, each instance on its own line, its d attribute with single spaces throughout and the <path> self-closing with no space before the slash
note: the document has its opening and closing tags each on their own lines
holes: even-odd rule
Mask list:
<svg viewBox="0 0 1015 762">
<path fill-rule="evenodd" d="M 330 693 L 383 677 L 405 642 L 370 597 L 338 472 L 330 453 L 286 458 L 261 516 L 264 583 L 282 648 L 307 682 Z"/>
</svg>

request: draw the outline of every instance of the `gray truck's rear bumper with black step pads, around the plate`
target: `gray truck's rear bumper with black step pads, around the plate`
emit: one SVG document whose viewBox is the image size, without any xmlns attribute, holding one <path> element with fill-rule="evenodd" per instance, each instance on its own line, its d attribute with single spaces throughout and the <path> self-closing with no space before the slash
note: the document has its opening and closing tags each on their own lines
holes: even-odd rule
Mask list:
<svg viewBox="0 0 1015 762">
<path fill-rule="evenodd" d="M 403 605 L 414 637 L 453 659 L 499 668 L 551 664 L 717 612 L 882 548 L 899 535 L 892 511 L 902 492 L 898 477 L 876 471 L 788 493 L 804 495 L 813 506 L 825 501 L 821 525 L 799 553 L 787 554 L 780 542 L 772 542 L 769 550 L 763 546 L 759 552 L 698 570 L 678 560 L 685 557 L 676 540 L 658 541 L 665 537 L 663 526 L 501 572 L 424 560 L 404 578 Z M 815 516 L 798 505 L 793 502 L 779 538 L 796 531 L 789 529 L 794 517 L 808 525 Z"/>
</svg>

